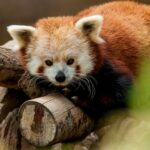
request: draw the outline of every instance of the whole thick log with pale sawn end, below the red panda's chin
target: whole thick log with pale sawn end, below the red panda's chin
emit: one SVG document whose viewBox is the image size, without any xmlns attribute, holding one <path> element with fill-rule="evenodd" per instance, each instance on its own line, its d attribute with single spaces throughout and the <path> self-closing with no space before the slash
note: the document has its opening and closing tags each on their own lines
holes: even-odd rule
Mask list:
<svg viewBox="0 0 150 150">
<path fill-rule="evenodd" d="M 93 120 L 58 93 L 25 102 L 19 122 L 22 136 L 35 146 L 81 137 L 93 129 Z"/>
</svg>

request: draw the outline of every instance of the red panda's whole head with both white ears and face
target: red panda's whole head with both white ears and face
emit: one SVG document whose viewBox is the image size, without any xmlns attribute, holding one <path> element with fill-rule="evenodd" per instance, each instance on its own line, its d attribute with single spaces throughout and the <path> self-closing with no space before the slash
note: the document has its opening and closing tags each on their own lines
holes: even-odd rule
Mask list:
<svg viewBox="0 0 150 150">
<path fill-rule="evenodd" d="M 101 43 L 103 18 L 95 15 L 74 21 L 73 17 L 41 19 L 36 27 L 11 25 L 20 58 L 32 75 L 43 75 L 57 86 L 91 73 L 95 55 L 90 42 Z"/>
</svg>

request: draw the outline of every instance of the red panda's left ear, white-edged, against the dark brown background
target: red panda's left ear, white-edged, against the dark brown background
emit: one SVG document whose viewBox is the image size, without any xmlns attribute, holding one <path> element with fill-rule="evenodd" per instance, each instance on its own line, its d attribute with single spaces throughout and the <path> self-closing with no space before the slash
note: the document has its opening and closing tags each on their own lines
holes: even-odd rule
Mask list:
<svg viewBox="0 0 150 150">
<path fill-rule="evenodd" d="M 17 44 L 15 50 L 19 50 L 25 48 L 36 29 L 32 26 L 10 25 L 7 27 L 7 31 Z"/>
</svg>

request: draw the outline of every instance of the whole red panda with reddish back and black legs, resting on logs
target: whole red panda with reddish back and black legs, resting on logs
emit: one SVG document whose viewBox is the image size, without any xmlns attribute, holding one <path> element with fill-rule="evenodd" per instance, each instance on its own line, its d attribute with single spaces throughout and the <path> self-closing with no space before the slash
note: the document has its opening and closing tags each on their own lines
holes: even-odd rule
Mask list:
<svg viewBox="0 0 150 150">
<path fill-rule="evenodd" d="M 8 32 L 26 70 L 69 88 L 68 97 L 97 117 L 126 106 L 140 63 L 150 55 L 150 6 L 110 2 L 40 19 L 35 27 L 11 25 Z"/>
</svg>

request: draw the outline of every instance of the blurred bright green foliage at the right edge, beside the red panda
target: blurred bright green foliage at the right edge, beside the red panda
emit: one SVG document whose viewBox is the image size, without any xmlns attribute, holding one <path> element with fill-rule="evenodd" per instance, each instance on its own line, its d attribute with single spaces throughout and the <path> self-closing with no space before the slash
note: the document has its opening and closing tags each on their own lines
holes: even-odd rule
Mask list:
<svg viewBox="0 0 150 150">
<path fill-rule="evenodd" d="M 150 113 L 150 60 L 143 61 L 139 76 L 130 92 L 129 105 L 131 110 Z M 145 114 L 146 115 L 146 114 Z"/>
</svg>

